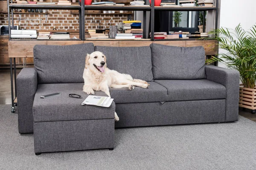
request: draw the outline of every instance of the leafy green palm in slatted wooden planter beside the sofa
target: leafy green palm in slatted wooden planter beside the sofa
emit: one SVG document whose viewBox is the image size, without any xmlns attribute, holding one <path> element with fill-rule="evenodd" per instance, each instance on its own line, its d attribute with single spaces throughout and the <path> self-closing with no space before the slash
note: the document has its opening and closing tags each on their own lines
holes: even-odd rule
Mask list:
<svg viewBox="0 0 256 170">
<path fill-rule="evenodd" d="M 210 33 L 214 35 L 212 39 L 218 40 L 218 48 L 226 52 L 208 59 L 207 64 L 218 61 L 239 71 L 239 106 L 256 113 L 256 25 L 247 31 L 239 24 L 235 30 L 219 28 Z"/>
</svg>

